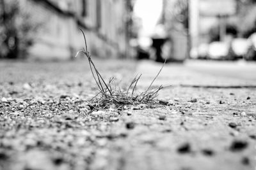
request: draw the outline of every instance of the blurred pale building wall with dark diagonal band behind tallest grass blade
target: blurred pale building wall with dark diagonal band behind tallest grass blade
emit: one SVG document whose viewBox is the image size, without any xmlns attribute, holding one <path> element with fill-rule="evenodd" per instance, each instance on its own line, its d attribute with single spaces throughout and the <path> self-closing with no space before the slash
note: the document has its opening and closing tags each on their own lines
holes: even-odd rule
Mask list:
<svg viewBox="0 0 256 170">
<path fill-rule="evenodd" d="M 30 50 L 40 58 L 69 59 L 83 49 L 81 31 L 88 50 L 99 57 L 127 55 L 127 8 L 122 0 L 24 0 L 29 11 L 43 26 Z"/>
</svg>

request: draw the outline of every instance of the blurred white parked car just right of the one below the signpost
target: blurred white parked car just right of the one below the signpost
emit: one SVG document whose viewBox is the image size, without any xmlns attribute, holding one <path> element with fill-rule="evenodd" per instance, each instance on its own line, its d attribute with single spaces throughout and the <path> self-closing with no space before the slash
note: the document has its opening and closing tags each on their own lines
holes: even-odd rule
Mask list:
<svg viewBox="0 0 256 170">
<path fill-rule="evenodd" d="M 230 59 L 243 59 L 249 49 L 248 39 L 246 38 L 235 38 L 232 40 L 230 45 Z"/>
</svg>

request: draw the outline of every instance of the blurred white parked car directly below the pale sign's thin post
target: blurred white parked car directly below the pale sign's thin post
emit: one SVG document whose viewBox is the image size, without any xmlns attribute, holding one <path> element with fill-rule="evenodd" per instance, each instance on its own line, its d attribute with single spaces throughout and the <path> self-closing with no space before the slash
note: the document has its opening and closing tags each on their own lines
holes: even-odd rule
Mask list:
<svg viewBox="0 0 256 170">
<path fill-rule="evenodd" d="M 224 60 L 228 59 L 230 45 L 226 42 L 214 41 L 210 43 L 207 56 L 209 59 Z"/>
</svg>

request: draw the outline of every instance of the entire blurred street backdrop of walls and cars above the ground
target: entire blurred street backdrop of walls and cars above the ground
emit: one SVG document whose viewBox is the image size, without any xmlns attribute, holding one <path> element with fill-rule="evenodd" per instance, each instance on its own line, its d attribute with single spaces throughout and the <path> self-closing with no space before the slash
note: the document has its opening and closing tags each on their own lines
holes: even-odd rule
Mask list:
<svg viewBox="0 0 256 170">
<path fill-rule="evenodd" d="M 253 0 L 1 0 L 1 59 L 255 60 Z M 225 8 L 222 8 L 225 6 Z"/>
</svg>

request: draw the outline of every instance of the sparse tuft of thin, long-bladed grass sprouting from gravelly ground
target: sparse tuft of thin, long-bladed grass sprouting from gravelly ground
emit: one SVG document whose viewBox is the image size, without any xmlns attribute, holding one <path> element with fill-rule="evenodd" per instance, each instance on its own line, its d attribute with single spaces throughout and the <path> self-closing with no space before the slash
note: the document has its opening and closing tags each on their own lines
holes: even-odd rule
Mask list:
<svg viewBox="0 0 256 170">
<path fill-rule="evenodd" d="M 83 53 L 84 55 L 86 55 L 92 72 L 92 76 L 99 89 L 99 93 L 95 97 L 93 97 L 88 103 L 93 104 L 95 108 L 102 109 L 108 108 L 111 104 L 115 104 L 117 108 L 123 108 L 125 105 L 136 106 L 138 104 L 156 103 L 154 99 L 158 96 L 159 90 L 163 89 L 163 86 L 161 85 L 157 88 L 152 88 L 152 84 L 156 80 L 157 76 L 159 76 L 159 74 L 161 73 L 166 60 L 154 80 L 152 80 L 152 82 L 148 86 L 147 90 L 141 92 L 140 94 L 136 94 L 135 92 L 137 83 L 141 78 L 141 74 L 140 76 L 135 76 L 127 89 L 122 90 L 120 88 L 117 88 L 116 85 L 113 85 L 115 77 L 109 78 L 108 81 L 105 81 L 102 78 L 102 75 L 99 73 L 97 67 L 93 63 L 90 52 L 88 52 L 84 32 L 82 29 L 80 30 L 83 33 L 85 49 L 83 48 L 83 50 L 77 52 L 77 55 L 79 53 Z"/>
</svg>

